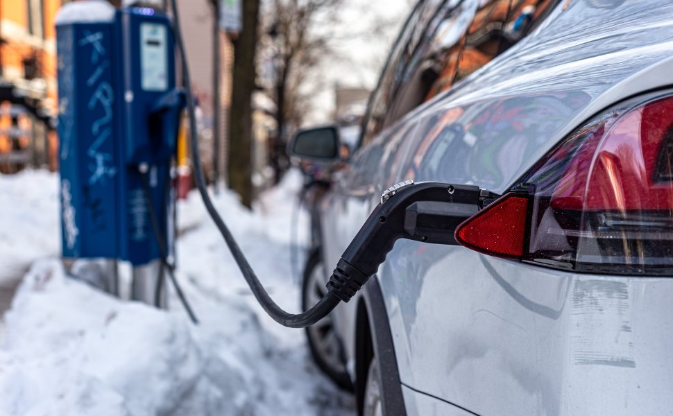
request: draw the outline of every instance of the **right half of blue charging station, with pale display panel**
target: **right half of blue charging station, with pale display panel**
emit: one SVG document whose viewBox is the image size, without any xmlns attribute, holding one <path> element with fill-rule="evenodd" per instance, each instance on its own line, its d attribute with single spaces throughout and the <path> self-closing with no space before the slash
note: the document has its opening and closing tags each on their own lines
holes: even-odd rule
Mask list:
<svg viewBox="0 0 673 416">
<path fill-rule="evenodd" d="M 169 172 L 182 105 L 174 98 L 179 94 L 171 22 L 166 15 L 151 8 L 125 8 L 117 14 L 116 27 L 122 40 L 125 94 L 120 141 L 121 256 L 139 266 L 162 256 L 160 241 L 171 246 L 166 239 Z M 145 173 L 139 170 L 142 165 L 148 166 Z"/>
</svg>

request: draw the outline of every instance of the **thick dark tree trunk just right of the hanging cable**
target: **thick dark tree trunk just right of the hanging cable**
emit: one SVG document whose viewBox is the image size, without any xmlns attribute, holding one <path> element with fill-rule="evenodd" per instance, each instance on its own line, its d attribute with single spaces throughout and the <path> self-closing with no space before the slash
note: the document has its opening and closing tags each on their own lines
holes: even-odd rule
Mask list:
<svg viewBox="0 0 673 416">
<path fill-rule="evenodd" d="M 259 0 L 245 0 L 241 3 L 243 7 L 243 29 L 239 33 L 234 50 L 228 177 L 229 187 L 241 196 L 241 202 L 249 208 L 253 202 L 252 95 L 255 89 L 255 50 L 257 48 Z"/>
</svg>

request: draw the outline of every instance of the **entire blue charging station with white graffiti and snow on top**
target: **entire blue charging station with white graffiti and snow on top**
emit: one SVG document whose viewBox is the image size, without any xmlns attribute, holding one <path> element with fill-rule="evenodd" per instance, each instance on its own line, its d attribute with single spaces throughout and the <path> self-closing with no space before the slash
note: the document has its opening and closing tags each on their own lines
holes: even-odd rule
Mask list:
<svg viewBox="0 0 673 416">
<path fill-rule="evenodd" d="M 90 0 L 65 5 L 56 33 L 62 255 L 134 266 L 160 259 L 148 196 L 168 239 L 185 107 L 171 22 L 153 8 Z"/>
</svg>

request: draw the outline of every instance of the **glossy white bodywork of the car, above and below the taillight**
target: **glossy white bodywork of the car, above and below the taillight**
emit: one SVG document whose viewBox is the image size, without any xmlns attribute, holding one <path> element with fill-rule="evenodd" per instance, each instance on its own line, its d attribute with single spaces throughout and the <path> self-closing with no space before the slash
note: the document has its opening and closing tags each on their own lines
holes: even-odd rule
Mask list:
<svg viewBox="0 0 673 416">
<path fill-rule="evenodd" d="M 672 3 L 563 3 L 359 150 L 325 203 L 327 264 L 391 184 L 502 193 L 593 114 L 672 85 Z M 414 390 L 482 416 L 673 413 L 673 279 L 577 275 L 411 241 L 395 245 L 378 279 L 400 377 Z M 354 301 L 336 311 L 351 360 Z M 404 397 L 412 415 L 434 411 Z"/>
</svg>

